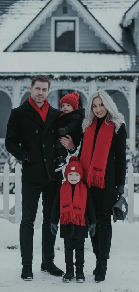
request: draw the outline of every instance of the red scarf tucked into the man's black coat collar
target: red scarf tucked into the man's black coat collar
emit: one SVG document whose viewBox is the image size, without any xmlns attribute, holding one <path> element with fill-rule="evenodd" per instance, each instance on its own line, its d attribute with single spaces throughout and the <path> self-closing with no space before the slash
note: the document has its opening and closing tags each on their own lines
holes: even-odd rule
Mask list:
<svg viewBox="0 0 139 292">
<path fill-rule="evenodd" d="M 36 105 L 35 101 L 31 98 L 31 95 L 29 96 L 29 103 L 32 105 L 32 107 L 34 107 L 34 109 L 36 110 L 36 112 L 38 112 L 38 114 L 43 119 L 43 122 L 45 123 L 46 117 L 47 117 L 47 113 L 48 113 L 48 109 L 49 109 L 48 100 L 45 99 L 45 102 L 44 102 L 44 104 L 42 106 L 42 109 L 40 109 L 38 107 L 38 105 Z"/>
</svg>

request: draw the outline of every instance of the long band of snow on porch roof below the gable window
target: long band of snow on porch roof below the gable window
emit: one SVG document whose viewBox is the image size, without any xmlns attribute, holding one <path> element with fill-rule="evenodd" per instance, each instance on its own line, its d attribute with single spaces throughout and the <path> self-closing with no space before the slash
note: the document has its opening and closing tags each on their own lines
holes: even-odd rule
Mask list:
<svg viewBox="0 0 139 292">
<path fill-rule="evenodd" d="M 37 60 L 37 66 L 36 66 Z M 68 52 L 3 52 L 0 73 L 72 73 L 130 71 L 132 60 L 125 54 Z M 36 72 L 37 71 L 37 72 Z"/>
</svg>

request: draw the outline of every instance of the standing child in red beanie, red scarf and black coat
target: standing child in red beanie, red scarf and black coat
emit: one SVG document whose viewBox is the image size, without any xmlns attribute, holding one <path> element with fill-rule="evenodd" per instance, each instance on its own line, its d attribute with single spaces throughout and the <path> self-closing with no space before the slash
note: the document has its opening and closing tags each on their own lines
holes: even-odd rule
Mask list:
<svg viewBox="0 0 139 292">
<path fill-rule="evenodd" d="M 79 158 L 72 156 L 65 169 L 66 181 L 57 191 L 51 215 L 51 231 L 57 234 L 60 217 L 60 237 L 64 238 L 66 274 L 63 282 L 74 278 L 73 250 L 76 258 L 76 282 L 84 282 L 85 238 L 95 234 L 96 216 L 89 188 L 83 183 Z"/>
</svg>

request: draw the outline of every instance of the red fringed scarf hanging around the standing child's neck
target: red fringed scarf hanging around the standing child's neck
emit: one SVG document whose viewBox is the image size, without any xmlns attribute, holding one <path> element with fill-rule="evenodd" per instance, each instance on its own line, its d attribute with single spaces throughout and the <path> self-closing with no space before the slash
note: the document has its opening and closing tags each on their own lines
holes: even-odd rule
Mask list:
<svg viewBox="0 0 139 292">
<path fill-rule="evenodd" d="M 60 224 L 73 223 L 75 225 L 85 225 L 85 208 L 87 200 L 86 185 L 80 180 L 75 185 L 74 197 L 72 201 L 72 186 L 66 179 L 60 189 Z"/>
</svg>

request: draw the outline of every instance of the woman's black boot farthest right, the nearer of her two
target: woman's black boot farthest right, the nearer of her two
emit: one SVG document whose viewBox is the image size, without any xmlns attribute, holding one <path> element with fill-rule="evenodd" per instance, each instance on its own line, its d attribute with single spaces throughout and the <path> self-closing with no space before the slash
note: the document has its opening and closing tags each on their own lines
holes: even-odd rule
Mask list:
<svg viewBox="0 0 139 292">
<path fill-rule="evenodd" d="M 107 271 L 107 260 L 99 259 L 98 268 L 97 268 L 96 275 L 94 278 L 95 282 L 100 283 L 100 282 L 104 281 L 106 271 Z"/>
</svg>

